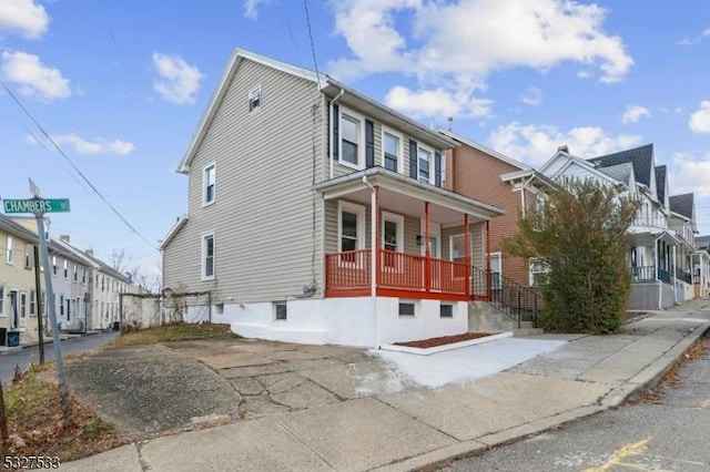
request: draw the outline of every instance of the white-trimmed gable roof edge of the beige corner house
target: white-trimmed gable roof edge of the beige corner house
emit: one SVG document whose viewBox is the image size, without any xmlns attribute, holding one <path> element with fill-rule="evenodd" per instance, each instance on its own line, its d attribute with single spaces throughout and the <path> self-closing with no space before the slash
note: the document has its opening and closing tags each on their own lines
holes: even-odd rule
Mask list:
<svg viewBox="0 0 710 472">
<path fill-rule="evenodd" d="M 190 142 L 190 146 L 185 152 L 185 155 L 180 161 L 178 165 L 178 172 L 187 173 L 190 171 L 190 164 L 202 143 L 202 140 L 207 133 L 210 129 L 210 124 L 214 119 L 219 105 L 226 95 L 227 90 L 230 89 L 230 84 L 232 79 L 239 71 L 240 65 L 245 61 L 253 61 L 258 64 L 265 65 L 267 68 L 272 68 L 284 72 L 286 74 L 293 75 L 295 78 L 300 78 L 313 83 L 314 89 L 318 92 L 329 96 L 335 98 L 341 92 L 345 93 L 339 102 L 347 104 L 348 102 L 356 102 L 359 107 L 364 109 L 363 111 L 367 112 L 373 117 L 376 117 L 383 122 L 392 122 L 396 121 L 402 131 L 405 131 L 414 136 L 424 135 L 432 143 L 436 143 L 440 147 L 455 147 L 457 144 L 437 133 L 435 130 L 428 129 L 420 123 L 389 109 L 388 106 L 383 105 L 382 103 L 357 92 L 354 89 L 348 88 L 347 85 L 336 81 L 329 75 L 320 74 L 314 71 L 307 70 L 305 68 L 301 68 L 297 65 L 292 65 L 286 62 L 276 61 L 271 58 L 266 58 L 265 55 L 256 54 L 254 52 L 250 52 L 243 49 L 235 49 L 227 62 L 224 72 L 220 79 L 217 88 L 215 89 L 212 98 L 210 99 L 210 103 L 205 109 L 200 123 L 195 130 L 195 133 L 192 136 Z"/>
</svg>

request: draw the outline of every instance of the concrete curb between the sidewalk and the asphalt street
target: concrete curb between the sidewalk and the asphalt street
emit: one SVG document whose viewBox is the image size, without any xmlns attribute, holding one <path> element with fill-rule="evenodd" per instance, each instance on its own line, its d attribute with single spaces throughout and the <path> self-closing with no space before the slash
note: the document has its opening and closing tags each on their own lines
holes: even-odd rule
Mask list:
<svg viewBox="0 0 710 472">
<path fill-rule="evenodd" d="M 404 472 L 422 470 L 425 468 L 444 466 L 449 461 L 464 459 L 485 452 L 496 445 L 513 443 L 531 434 L 539 434 L 551 428 L 566 424 L 585 417 L 615 409 L 626 400 L 640 398 L 647 390 L 657 384 L 670 369 L 680 363 L 682 356 L 690 349 L 693 342 L 710 330 L 710 321 L 696 328 L 690 335 L 682 338 L 676 346 L 651 362 L 646 369 L 630 379 L 627 383 L 609 391 L 599 404 L 576 408 L 574 410 L 542 418 L 527 424 L 521 424 L 509 430 L 499 431 L 489 435 L 463 441 L 446 448 L 430 451 L 422 455 L 405 459 L 395 464 L 388 464 L 374 470 L 379 472 Z"/>
</svg>

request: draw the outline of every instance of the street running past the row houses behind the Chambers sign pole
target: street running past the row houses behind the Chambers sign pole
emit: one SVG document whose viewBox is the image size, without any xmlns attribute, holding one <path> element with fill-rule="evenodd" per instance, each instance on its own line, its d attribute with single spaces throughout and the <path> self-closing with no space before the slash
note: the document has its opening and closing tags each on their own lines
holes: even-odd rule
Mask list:
<svg viewBox="0 0 710 472">
<path fill-rule="evenodd" d="M 82 336 L 79 338 L 65 339 L 62 341 L 62 356 L 70 353 L 85 352 L 99 348 L 119 336 L 118 331 L 99 332 L 97 335 Z M 51 339 L 51 337 L 49 338 Z M 16 366 L 24 371 L 30 362 L 40 362 L 39 347 L 21 349 L 0 356 L 0 380 L 2 387 L 8 387 L 14 377 Z M 54 360 L 54 346 L 51 342 L 44 345 L 44 360 Z"/>
</svg>

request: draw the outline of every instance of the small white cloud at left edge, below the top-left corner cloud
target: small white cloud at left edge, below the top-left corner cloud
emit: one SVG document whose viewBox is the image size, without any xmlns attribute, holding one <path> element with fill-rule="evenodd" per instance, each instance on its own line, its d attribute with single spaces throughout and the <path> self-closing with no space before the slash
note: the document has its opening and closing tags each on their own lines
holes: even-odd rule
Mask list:
<svg viewBox="0 0 710 472">
<path fill-rule="evenodd" d="M 20 93 L 43 101 L 71 95 L 69 80 L 58 69 L 40 62 L 40 58 L 26 52 L 2 52 L 2 76 L 20 86 Z"/>
</svg>

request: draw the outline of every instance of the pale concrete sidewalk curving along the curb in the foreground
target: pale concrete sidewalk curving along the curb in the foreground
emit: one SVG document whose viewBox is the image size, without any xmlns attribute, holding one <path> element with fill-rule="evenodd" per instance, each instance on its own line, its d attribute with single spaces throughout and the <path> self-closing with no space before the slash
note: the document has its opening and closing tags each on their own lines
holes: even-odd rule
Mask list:
<svg viewBox="0 0 710 472">
<path fill-rule="evenodd" d="M 489 377 L 161 437 L 62 470 L 414 470 L 641 394 L 709 328 L 710 300 L 692 300 L 651 312 L 619 335 L 530 337 L 568 342 Z"/>
</svg>

